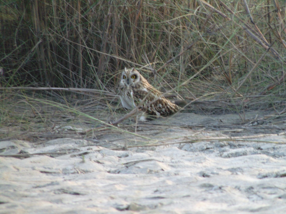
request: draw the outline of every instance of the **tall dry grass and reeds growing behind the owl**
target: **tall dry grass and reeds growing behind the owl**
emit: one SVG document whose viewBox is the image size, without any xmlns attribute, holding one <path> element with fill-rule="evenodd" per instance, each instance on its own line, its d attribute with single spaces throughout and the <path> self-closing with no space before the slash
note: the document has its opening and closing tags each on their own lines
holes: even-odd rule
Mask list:
<svg viewBox="0 0 286 214">
<path fill-rule="evenodd" d="M 117 118 L 112 92 L 125 66 L 209 112 L 277 108 L 285 100 L 284 1 L 4 0 L 0 20 L 5 139 L 11 129 L 37 132 L 31 124 L 47 130 L 57 124 L 51 116 L 86 117 L 78 110 Z M 20 86 L 34 88 L 11 88 Z M 39 87 L 72 92 L 34 94 Z"/>
</svg>

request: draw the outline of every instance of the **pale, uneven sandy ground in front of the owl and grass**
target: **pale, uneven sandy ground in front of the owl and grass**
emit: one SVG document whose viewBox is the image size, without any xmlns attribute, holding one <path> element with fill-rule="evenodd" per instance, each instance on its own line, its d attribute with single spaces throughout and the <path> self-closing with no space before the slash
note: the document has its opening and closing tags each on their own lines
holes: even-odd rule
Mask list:
<svg viewBox="0 0 286 214">
<path fill-rule="evenodd" d="M 0 213 L 285 213 L 286 126 L 265 114 L 179 113 L 93 139 L 1 141 Z"/>
</svg>

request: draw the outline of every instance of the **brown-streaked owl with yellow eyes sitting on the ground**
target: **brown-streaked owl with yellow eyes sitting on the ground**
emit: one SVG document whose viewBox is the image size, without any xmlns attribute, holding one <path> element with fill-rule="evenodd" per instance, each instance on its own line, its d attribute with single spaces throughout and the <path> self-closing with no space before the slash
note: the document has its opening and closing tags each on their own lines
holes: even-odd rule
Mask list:
<svg viewBox="0 0 286 214">
<path fill-rule="evenodd" d="M 146 121 L 147 114 L 169 116 L 181 109 L 150 85 L 135 68 L 124 69 L 118 90 L 124 108 L 134 109 L 138 106 L 141 110 L 140 121 Z"/>
</svg>

